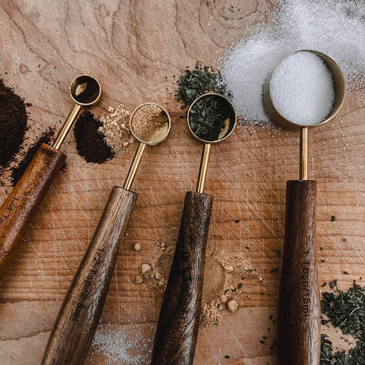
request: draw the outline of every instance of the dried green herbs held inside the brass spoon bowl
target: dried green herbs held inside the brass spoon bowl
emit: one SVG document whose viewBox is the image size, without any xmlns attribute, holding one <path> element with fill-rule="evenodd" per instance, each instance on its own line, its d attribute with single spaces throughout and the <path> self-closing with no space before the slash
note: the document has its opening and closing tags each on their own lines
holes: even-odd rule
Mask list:
<svg viewBox="0 0 365 365">
<path fill-rule="evenodd" d="M 210 95 L 197 100 L 190 109 L 190 128 L 203 140 L 218 140 L 229 118 L 227 103 L 222 97 Z"/>
</svg>

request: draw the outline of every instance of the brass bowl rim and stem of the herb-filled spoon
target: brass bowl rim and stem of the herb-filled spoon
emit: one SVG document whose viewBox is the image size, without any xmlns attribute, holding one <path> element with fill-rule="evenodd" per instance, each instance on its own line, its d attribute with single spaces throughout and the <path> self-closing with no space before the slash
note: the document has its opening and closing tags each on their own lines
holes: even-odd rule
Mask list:
<svg viewBox="0 0 365 365">
<path fill-rule="evenodd" d="M 196 103 L 199 99 L 203 97 L 211 97 L 212 95 L 215 95 L 216 97 L 220 97 L 224 99 L 225 103 L 227 104 L 227 107 L 229 109 L 229 118 L 225 121 L 225 127 L 222 129 L 221 133 L 218 136 L 217 140 L 203 140 L 202 138 L 198 137 L 194 132 L 192 131 L 189 123 L 190 118 L 190 110 L 194 103 Z M 190 108 L 188 110 L 188 128 L 190 131 L 190 134 L 193 136 L 195 140 L 198 140 L 201 143 L 204 143 L 203 152 L 201 153 L 201 160 L 200 160 L 200 167 L 199 167 L 199 175 L 198 175 L 198 181 L 197 181 L 197 192 L 203 193 L 204 190 L 204 183 L 205 183 L 205 177 L 207 176 L 207 168 L 208 168 L 208 162 L 209 162 L 209 155 L 210 155 L 210 147 L 212 146 L 212 143 L 218 143 L 228 136 L 232 134 L 234 131 L 234 128 L 236 127 L 237 123 L 237 114 L 236 109 L 234 108 L 234 105 L 221 94 L 216 94 L 215 92 L 207 92 L 207 94 L 201 95 L 201 97 L 194 100 L 192 105 L 190 105 Z"/>
</svg>

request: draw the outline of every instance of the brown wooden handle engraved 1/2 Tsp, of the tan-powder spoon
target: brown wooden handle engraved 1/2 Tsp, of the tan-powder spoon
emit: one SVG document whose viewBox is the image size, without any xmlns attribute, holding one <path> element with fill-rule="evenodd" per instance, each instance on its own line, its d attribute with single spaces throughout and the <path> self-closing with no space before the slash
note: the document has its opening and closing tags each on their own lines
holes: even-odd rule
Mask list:
<svg viewBox="0 0 365 365">
<path fill-rule="evenodd" d="M 84 364 L 137 194 L 114 186 L 51 331 L 42 365 Z"/>
</svg>

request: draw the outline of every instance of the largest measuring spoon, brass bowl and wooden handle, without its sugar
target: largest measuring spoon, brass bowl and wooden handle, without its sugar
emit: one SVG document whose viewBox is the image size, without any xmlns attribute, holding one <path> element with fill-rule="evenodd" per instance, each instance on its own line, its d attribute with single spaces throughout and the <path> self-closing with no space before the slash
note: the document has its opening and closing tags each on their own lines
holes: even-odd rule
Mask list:
<svg viewBox="0 0 365 365">
<path fill-rule="evenodd" d="M 344 101 L 345 83 L 340 67 L 324 53 L 310 50 L 298 52 L 310 52 L 325 62 L 333 79 L 335 96 L 329 114 L 319 123 L 294 123 L 278 112 L 270 89 L 270 81 L 275 71 L 286 58 L 275 66 L 264 85 L 263 102 L 268 116 L 284 129 L 300 131 L 301 140 L 299 180 L 289 180 L 286 183 L 286 224 L 277 318 L 277 361 L 281 365 L 318 365 L 320 299 L 314 240 L 316 181 L 308 180 L 308 127 L 322 125 L 338 113 Z M 287 58 L 298 52 L 288 55 Z M 317 82 L 316 79 L 311 81 Z"/>
</svg>

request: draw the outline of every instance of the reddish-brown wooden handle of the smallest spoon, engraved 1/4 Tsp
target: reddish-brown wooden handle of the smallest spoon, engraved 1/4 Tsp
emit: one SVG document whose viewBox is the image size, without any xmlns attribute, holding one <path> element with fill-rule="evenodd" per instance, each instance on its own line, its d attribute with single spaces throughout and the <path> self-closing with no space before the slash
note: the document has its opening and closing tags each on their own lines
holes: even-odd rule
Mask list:
<svg viewBox="0 0 365 365">
<path fill-rule="evenodd" d="M 16 245 L 32 221 L 66 155 L 43 143 L 18 184 L 0 207 L 0 271 L 12 259 Z"/>
</svg>

